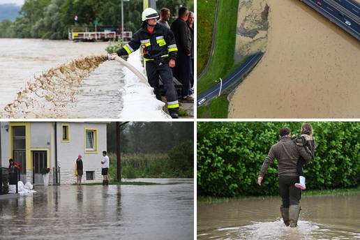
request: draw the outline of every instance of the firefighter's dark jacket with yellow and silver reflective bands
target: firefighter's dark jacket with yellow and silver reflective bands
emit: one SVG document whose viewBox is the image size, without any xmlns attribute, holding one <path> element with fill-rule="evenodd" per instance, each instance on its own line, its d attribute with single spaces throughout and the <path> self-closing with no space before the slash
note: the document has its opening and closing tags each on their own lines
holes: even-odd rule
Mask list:
<svg viewBox="0 0 360 240">
<path fill-rule="evenodd" d="M 147 22 L 142 23 L 141 29 L 134 33 L 130 42 L 117 52 L 119 56 L 130 54 L 142 48 L 145 61 L 153 61 L 163 57 L 177 59 L 177 45 L 174 34 L 170 29 L 156 24 L 153 33 L 147 30 Z"/>
</svg>

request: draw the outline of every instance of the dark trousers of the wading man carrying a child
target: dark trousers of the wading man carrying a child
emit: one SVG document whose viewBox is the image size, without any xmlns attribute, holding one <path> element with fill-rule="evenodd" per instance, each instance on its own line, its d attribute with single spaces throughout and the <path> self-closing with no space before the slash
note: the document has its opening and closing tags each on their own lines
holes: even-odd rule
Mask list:
<svg viewBox="0 0 360 240">
<path fill-rule="evenodd" d="M 283 207 L 299 205 L 301 189 L 294 186 L 299 181 L 299 176 L 279 176 L 280 197 L 283 200 Z"/>
</svg>

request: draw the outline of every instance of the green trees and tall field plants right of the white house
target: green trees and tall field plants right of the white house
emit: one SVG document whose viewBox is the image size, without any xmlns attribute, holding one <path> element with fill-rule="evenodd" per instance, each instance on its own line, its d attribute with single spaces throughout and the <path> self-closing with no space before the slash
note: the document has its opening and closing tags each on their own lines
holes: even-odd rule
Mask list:
<svg viewBox="0 0 360 240">
<path fill-rule="evenodd" d="M 121 126 L 123 178 L 193 177 L 193 122 L 130 122 Z M 110 176 L 116 177 L 116 123 L 107 125 Z"/>
</svg>

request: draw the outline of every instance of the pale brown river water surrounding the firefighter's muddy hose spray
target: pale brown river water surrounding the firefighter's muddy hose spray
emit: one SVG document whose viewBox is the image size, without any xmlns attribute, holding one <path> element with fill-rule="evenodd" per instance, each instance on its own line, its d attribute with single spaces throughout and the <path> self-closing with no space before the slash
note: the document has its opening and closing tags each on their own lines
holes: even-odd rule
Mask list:
<svg viewBox="0 0 360 240">
<path fill-rule="evenodd" d="M 105 47 L 106 42 L 0 38 L 0 116 L 6 117 L 3 108 L 17 98 L 17 92 L 24 89 L 27 82 L 33 81 L 34 75 L 79 57 L 104 55 Z M 123 107 L 119 92 L 123 76 L 119 63 L 105 61 L 76 87 L 75 101 L 69 100 L 65 108 L 58 110 L 61 115 L 52 116 L 53 111 L 45 108 L 43 115 L 36 117 L 117 118 Z M 43 103 L 33 108 L 43 109 Z"/>
</svg>

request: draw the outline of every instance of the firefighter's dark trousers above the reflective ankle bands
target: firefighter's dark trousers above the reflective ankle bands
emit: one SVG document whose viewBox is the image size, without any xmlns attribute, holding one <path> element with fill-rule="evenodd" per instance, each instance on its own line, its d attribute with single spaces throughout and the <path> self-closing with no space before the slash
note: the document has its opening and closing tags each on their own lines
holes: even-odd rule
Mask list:
<svg viewBox="0 0 360 240">
<path fill-rule="evenodd" d="M 169 66 L 169 59 L 159 59 L 155 61 L 147 61 L 147 80 L 155 91 L 156 98 L 161 100 L 159 89 L 159 76 L 163 80 L 166 92 L 167 103 L 177 101 L 177 89 L 175 89 L 172 81 L 172 70 Z"/>
</svg>

